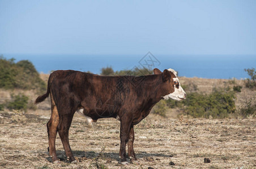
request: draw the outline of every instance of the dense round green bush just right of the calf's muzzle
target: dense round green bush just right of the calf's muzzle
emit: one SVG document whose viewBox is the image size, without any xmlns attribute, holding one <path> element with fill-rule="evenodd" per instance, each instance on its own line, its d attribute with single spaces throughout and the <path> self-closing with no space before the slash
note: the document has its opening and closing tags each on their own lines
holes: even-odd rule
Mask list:
<svg viewBox="0 0 256 169">
<path fill-rule="evenodd" d="M 210 95 L 191 93 L 183 103 L 185 113 L 192 117 L 226 118 L 236 111 L 235 98 L 230 90 L 214 90 Z"/>
</svg>

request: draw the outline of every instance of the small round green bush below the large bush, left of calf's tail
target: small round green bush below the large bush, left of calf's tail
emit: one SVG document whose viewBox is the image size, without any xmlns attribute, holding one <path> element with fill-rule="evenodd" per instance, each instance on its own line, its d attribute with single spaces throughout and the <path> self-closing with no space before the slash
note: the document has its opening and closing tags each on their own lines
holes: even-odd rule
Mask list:
<svg viewBox="0 0 256 169">
<path fill-rule="evenodd" d="M 11 95 L 11 101 L 7 103 L 9 110 L 27 110 L 28 97 L 24 94 Z"/>
</svg>

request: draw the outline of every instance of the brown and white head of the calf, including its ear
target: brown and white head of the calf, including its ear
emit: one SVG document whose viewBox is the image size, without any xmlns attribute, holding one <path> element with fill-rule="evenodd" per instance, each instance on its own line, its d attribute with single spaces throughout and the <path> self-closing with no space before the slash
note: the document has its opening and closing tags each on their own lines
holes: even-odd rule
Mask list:
<svg viewBox="0 0 256 169">
<path fill-rule="evenodd" d="M 161 74 L 163 79 L 163 99 L 173 99 L 173 100 L 183 100 L 186 99 L 186 92 L 181 87 L 180 81 L 177 78 L 177 72 L 173 69 L 165 69 L 161 72 L 159 69 L 155 68 L 153 70 L 154 74 Z"/>
</svg>

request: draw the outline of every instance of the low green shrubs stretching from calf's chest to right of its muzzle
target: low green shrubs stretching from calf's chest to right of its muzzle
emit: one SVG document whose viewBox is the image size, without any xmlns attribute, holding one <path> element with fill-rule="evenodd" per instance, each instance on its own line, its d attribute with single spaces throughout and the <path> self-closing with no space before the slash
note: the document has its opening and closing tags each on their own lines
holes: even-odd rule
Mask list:
<svg viewBox="0 0 256 169">
<path fill-rule="evenodd" d="M 153 107 L 152 112 L 165 117 L 169 108 L 181 108 L 186 115 L 194 118 L 227 118 L 236 112 L 235 98 L 236 95 L 230 88 L 214 89 L 209 95 L 192 92 L 183 101 L 161 100 Z"/>
</svg>

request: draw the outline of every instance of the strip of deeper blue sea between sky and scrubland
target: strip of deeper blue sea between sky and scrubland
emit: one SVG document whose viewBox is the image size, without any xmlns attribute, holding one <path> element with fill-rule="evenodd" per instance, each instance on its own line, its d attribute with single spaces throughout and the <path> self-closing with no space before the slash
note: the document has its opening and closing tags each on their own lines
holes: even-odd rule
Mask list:
<svg viewBox="0 0 256 169">
<path fill-rule="evenodd" d="M 112 67 L 114 71 L 135 68 L 172 68 L 180 77 L 209 79 L 249 78 L 245 69 L 256 68 L 256 55 L 40 55 L 3 54 L 16 62 L 29 60 L 39 73 L 53 70 L 79 70 L 100 74 L 101 68 Z"/>
</svg>

